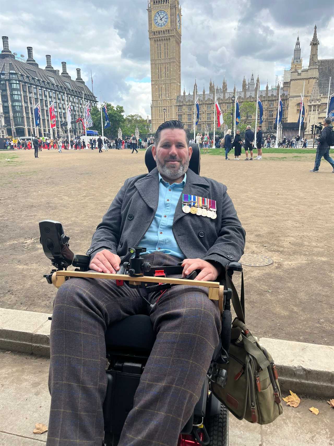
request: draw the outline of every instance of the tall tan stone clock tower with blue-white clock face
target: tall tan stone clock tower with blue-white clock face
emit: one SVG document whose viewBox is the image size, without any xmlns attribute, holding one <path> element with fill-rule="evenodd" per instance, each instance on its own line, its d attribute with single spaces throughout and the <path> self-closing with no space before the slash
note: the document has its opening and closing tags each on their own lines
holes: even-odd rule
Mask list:
<svg viewBox="0 0 334 446">
<path fill-rule="evenodd" d="M 155 132 L 164 119 L 176 119 L 177 116 L 176 97 L 181 94 L 181 8 L 178 0 L 149 0 L 147 12 L 151 119 Z"/>
</svg>

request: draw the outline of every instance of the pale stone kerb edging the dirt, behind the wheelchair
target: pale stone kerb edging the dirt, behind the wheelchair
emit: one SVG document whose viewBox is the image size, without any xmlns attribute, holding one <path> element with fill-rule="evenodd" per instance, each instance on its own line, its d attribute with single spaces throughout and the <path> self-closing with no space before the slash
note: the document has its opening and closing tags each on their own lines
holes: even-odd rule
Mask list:
<svg viewBox="0 0 334 446">
<path fill-rule="evenodd" d="M 0 308 L 0 349 L 50 356 L 51 314 Z M 276 363 L 283 393 L 334 397 L 334 347 L 261 338 Z"/>
</svg>

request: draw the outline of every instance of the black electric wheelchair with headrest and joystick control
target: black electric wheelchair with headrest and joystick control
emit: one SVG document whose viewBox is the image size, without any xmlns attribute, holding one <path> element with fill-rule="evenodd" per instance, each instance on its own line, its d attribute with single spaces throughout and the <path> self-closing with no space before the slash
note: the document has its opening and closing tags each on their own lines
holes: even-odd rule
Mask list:
<svg viewBox="0 0 334 446">
<path fill-rule="evenodd" d="M 195 173 L 200 174 L 200 148 L 198 144 L 192 144 L 192 156 L 189 168 Z M 151 152 L 150 146 L 145 153 L 145 164 L 150 172 L 155 168 L 155 160 Z M 87 271 L 89 269 L 90 257 L 73 255 L 69 249 L 69 237 L 66 237 L 61 226 L 61 223 L 52 220 L 44 220 L 39 223 L 41 232 L 41 244 L 45 255 L 51 260 L 53 269 L 50 274 L 44 277 L 48 283 L 55 283 L 55 272 L 62 270 L 67 271 L 67 267 L 71 264 L 76 267 L 75 271 Z M 130 262 L 121 264 L 121 269 L 118 273 L 124 274 L 127 272 L 129 276 L 138 275 L 138 272 L 143 276 L 156 276 L 156 271 L 160 274 L 163 270 L 165 277 L 168 275 L 181 274 L 181 266 L 169 266 L 151 268 L 151 265 L 144 263 L 144 258 L 140 253 L 145 251 L 145 248 L 134 247 L 130 248 Z M 132 250 L 132 251 L 131 251 Z M 232 262 L 227 267 L 227 273 L 232 276 L 233 270 L 240 268 L 240 264 Z M 173 269 L 174 268 L 174 269 Z M 159 274 L 158 274 L 159 275 Z M 197 272 L 194 271 L 186 279 L 194 279 Z M 63 277 L 65 280 L 65 277 Z M 129 277 L 129 283 L 130 277 Z M 151 289 L 159 291 L 170 288 L 168 284 L 145 284 L 154 285 Z M 160 288 L 159 288 L 160 286 Z M 220 344 L 216 347 L 213 354 L 212 364 L 222 355 L 222 351 L 226 354 L 228 352 L 230 336 L 231 336 L 231 320 L 230 317 L 230 299 L 232 292 L 230 289 L 224 290 L 223 305 L 223 322 L 222 335 Z M 222 308 L 221 308 L 222 310 Z M 228 318 L 224 320 L 224 314 L 228 314 Z M 151 324 L 151 319 L 147 315 L 138 314 L 129 316 L 120 322 L 109 326 L 105 333 L 106 339 L 106 359 L 107 359 L 107 389 L 106 397 L 103 404 L 103 417 L 105 438 L 102 446 L 114 446 L 118 444 L 118 440 L 126 420 L 127 414 L 133 407 L 134 394 L 139 384 L 139 380 L 145 364 L 150 355 L 153 344 L 155 343 L 155 333 Z M 222 348 L 223 347 L 223 348 Z M 214 368 L 213 368 L 214 369 Z M 209 446 L 227 446 L 228 445 L 228 410 L 218 401 L 218 399 L 210 391 L 210 379 L 215 380 L 224 386 L 226 376 L 212 376 L 212 365 L 205 377 L 200 399 L 197 402 L 194 411 L 184 425 L 179 435 L 177 446 L 191 446 L 191 445 L 209 445 Z M 175 445 L 176 446 L 176 445 Z"/>
</svg>

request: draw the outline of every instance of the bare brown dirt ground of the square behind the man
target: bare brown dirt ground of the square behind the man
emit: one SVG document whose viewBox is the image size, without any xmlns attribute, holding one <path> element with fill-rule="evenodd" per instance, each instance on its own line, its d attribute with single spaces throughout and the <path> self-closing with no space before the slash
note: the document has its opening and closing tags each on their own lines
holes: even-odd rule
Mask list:
<svg viewBox="0 0 334 446">
<path fill-rule="evenodd" d="M 334 174 L 324 160 L 317 174 L 313 165 L 314 154 L 264 151 L 247 163 L 202 155 L 201 174 L 228 186 L 245 253 L 273 259 L 244 267 L 254 334 L 334 345 Z M 43 278 L 51 265 L 38 222 L 60 221 L 70 248 L 84 254 L 124 180 L 145 170 L 143 151 L 0 152 L 0 307 L 52 313 L 56 289 Z"/>
</svg>

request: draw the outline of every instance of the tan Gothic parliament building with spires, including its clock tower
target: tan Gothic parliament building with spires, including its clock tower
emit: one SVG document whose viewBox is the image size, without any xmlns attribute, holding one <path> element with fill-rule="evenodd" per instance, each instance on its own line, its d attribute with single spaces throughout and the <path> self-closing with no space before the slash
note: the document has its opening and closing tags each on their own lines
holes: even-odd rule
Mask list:
<svg viewBox="0 0 334 446">
<path fill-rule="evenodd" d="M 214 126 L 214 97 L 224 113 L 232 111 L 232 96 L 237 96 L 240 106 L 244 101 L 256 102 L 260 78 L 254 75 L 242 81 L 241 89 L 234 85 L 228 89 L 225 78 L 221 86 L 215 86 L 210 80 L 208 91 L 199 91 L 196 85 L 192 92 L 181 93 L 181 36 L 182 14 L 178 0 L 149 0 L 148 32 L 151 53 L 151 122 L 155 132 L 164 119 L 183 121 L 189 130 L 193 130 L 194 103 L 199 99 L 200 120 L 197 132 L 212 131 Z M 317 26 L 314 27 L 310 42 L 310 59 L 308 66 L 303 66 L 301 58 L 301 42 L 297 37 L 293 51 L 291 67 L 284 71 L 281 83 L 281 100 L 283 117 L 281 134 L 289 137 L 298 132 L 297 123 L 300 111 L 301 93 L 304 89 L 304 132 L 310 137 L 311 125 L 326 117 L 329 78 L 333 76 L 330 94 L 334 93 L 334 59 L 318 59 L 319 41 Z M 268 86 L 259 91 L 259 99 L 263 104 L 262 129 L 274 132 L 275 118 L 279 100 L 279 85 Z M 255 116 L 252 117 L 253 121 Z M 241 116 L 242 120 L 242 116 Z M 276 126 L 275 126 L 276 128 Z"/>
</svg>

